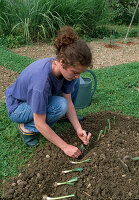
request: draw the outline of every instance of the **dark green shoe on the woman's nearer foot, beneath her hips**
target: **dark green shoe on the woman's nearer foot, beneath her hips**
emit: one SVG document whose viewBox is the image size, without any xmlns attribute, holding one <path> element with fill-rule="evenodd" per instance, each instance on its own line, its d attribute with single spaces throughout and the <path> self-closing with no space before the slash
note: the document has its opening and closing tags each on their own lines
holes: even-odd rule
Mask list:
<svg viewBox="0 0 139 200">
<path fill-rule="evenodd" d="M 27 144 L 30 147 L 36 147 L 39 145 L 39 141 L 35 136 L 35 133 L 26 133 L 24 132 L 21 128 L 20 125 L 18 124 L 18 132 L 20 134 L 21 139 L 25 144 Z"/>
</svg>

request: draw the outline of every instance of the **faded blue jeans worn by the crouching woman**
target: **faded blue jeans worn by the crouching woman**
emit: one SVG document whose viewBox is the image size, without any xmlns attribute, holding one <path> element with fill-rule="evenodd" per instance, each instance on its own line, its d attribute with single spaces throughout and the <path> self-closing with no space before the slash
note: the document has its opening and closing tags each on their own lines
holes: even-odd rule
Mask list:
<svg viewBox="0 0 139 200">
<path fill-rule="evenodd" d="M 79 89 L 79 79 L 76 80 L 74 91 L 71 94 L 72 102 L 75 105 Z M 49 126 L 55 124 L 58 119 L 63 117 L 68 108 L 67 100 L 62 96 L 51 96 L 48 99 L 48 107 L 46 113 L 46 123 Z M 23 123 L 24 127 L 32 132 L 39 132 L 34 124 L 33 112 L 30 105 L 27 103 L 20 104 L 12 113 L 9 114 L 12 121 Z"/>
</svg>

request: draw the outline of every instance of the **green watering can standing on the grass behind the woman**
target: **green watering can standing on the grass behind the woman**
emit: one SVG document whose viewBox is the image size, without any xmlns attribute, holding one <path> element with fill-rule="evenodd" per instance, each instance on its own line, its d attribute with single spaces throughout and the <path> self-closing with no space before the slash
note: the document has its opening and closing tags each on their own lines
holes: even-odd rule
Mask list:
<svg viewBox="0 0 139 200">
<path fill-rule="evenodd" d="M 91 104 L 92 96 L 95 93 L 97 87 L 97 78 L 95 73 L 89 69 L 87 69 L 86 72 L 92 74 L 93 80 L 91 78 L 80 77 L 80 86 L 75 108 L 85 108 L 89 106 Z M 94 86 L 92 89 L 93 81 L 94 81 Z"/>
</svg>

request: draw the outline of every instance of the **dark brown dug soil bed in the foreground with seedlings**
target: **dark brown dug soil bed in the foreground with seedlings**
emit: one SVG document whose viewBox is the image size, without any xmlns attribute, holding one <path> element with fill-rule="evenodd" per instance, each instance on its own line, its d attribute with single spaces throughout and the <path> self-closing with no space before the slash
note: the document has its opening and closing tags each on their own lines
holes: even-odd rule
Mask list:
<svg viewBox="0 0 139 200">
<path fill-rule="evenodd" d="M 111 130 L 97 141 L 100 130 L 108 125 L 107 119 L 110 119 Z M 91 158 L 90 163 L 71 164 L 71 158 L 47 142 L 37 149 L 34 161 L 29 161 L 25 172 L 4 184 L 3 199 L 40 200 L 45 194 L 51 197 L 75 194 L 75 200 L 139 199 L 139 161 L 126 160 L 127 170 L 119 160 L 126 155 L 139 156 L 139 120 L 118 113 L 99 112 L 86 116 L 82 126 L 94 135 L 84 157 Z M 60 136 L 70 144 L 81 145 L 72 127 Z M 83 167 L 83 172 L 61 174 L 62 170 L 77 167 Z M 79 178 L 75 186 L 54 187 L 54 182 L 74 177 Z"/>
</svg>

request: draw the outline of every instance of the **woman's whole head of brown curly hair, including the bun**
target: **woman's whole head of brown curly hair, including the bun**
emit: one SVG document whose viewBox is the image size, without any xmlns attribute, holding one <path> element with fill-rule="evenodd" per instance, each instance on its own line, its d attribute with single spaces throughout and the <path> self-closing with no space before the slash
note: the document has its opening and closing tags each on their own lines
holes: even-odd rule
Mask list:
<svg viewBox="0 0 139 200">
<path fill-rule="evenodd" d="M 91 51 L 85 41 L 80 40 L 70 26 L 61 28 L 54 40 L 57 60 L 62 59 L 64 68 L 69 66 L 88 67 L 92 61 Z"/>
</svg>

